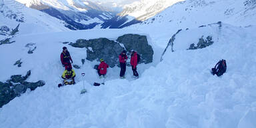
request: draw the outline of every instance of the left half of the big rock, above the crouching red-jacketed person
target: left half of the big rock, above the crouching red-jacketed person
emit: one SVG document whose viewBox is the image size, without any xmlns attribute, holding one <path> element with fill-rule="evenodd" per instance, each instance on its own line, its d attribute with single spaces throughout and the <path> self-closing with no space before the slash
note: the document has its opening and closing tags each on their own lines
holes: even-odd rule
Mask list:
<svg viewBox="0 0 256 128">
<path fill-rule="evenodd" d="M 99 39 L 78 39 L 76 43 L 70 43 L 73 47 L 86 47 L 87 48 L 87 60 L 94 61 L 104 59 L 110 66 L 114 67 L 118 63 L 118 55 L 123 51 L 123 47 L 115 41 L 111 41 L 107 38 Z"/>
</svg>

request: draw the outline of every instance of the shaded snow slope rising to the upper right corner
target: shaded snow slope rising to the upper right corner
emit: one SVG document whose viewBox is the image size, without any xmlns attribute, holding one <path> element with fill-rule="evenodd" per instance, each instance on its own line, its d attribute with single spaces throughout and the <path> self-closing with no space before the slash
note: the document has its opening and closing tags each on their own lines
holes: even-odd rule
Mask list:
<svg viewBox="0 0 256 128">
<path fill-rule="evenodd" d="M 161 39 L 166 35 L 173 35 L 178 29 L 195 28 L 218 21 L 236 26 L 255 25 L 255 7 L 254 0 L 187 0 L 176 3 L 155 17 L 131 28 L 149 31 L 156 35 L 154 39 Z M 169 33 L 163 33 L 163 30 Z M 159 45 L 165 47 L 165 41 Z"/>
</svg>

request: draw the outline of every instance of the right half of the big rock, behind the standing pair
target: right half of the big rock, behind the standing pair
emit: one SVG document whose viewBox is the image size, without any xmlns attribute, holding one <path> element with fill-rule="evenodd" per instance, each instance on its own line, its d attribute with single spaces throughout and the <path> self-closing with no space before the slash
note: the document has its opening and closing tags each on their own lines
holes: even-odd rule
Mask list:
<svg viewBox="0 0 256 128">
<path fill-rule="evenodd" d="M 153 61 L 153 49 L 147 42 L 145 35 L 127 34 L 118 37 L 117 41 L 123 43 L 127 51 L 132 49 L 141 55 L 140 63 L 151 63 Z"/>
</svg>

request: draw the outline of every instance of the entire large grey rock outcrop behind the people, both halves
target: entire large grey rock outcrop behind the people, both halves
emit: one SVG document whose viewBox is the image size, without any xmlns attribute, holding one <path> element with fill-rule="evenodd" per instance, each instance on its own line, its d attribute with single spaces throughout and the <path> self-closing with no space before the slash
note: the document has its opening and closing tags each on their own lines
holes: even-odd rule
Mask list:
<svg viewBox="0 0 256 128">
<path fill-rule="evenodd" d="M 148 44 L 145 35 L 127 34 L 118 37 L 117 41 L 111 41 L 107 38 L 78 39 L 76 43 L 69 43 L 69 45 L 87 48 L 87 60 L 99 61 L 99 59 L 103 58 L 110 67 L 119 65 L 118 56 L 123 49 L 137 51 L 141 55 L 140 63 L 151 63 L 153 61 L 153 49 Z"/>
</svg>

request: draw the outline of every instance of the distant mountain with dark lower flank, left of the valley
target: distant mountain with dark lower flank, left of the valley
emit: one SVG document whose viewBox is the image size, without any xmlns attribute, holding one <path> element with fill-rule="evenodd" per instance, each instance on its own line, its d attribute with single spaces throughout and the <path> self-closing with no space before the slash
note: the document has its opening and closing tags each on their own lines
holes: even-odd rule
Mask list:
<svg viewBox="0 0 256 128">
<path fill-rule="evenodd" d="M 17 0 L 27 7 L 43 11 L 67 23 L 69 29 L 93 29 L 111 19 L 115 13 L 92 1 L 81 0 Z"/>
</svg>

